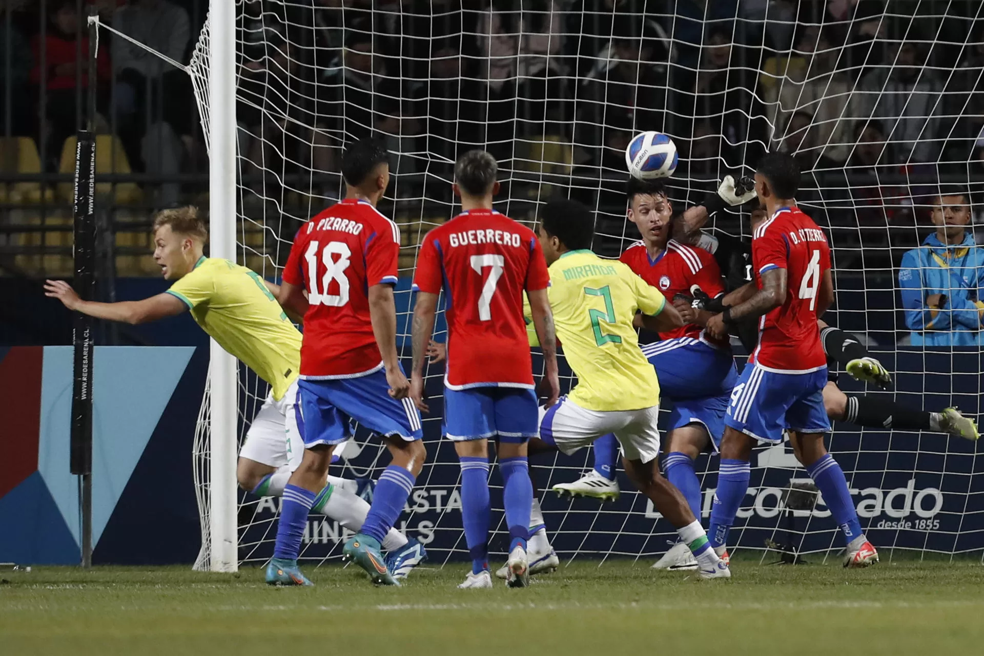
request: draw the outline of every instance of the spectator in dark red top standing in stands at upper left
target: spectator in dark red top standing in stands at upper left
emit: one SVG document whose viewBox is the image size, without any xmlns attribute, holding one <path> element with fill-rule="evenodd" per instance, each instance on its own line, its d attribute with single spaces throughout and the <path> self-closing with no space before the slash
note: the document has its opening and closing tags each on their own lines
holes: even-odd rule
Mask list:
<svg viewBox="0 0 984 656">
<path fill-rule="evenodd" d="M 89 36 L 81 29 L 82 19 L 76 11 L 75 0 L 56 0 L 48 5 L 50 25 L 44 40 L 35 35 L 31 39 L 34 66 L 31 83 L 47 89 L 44 120 L 41 129 L 42 156 L 48 166 L 58 169 L 58 162 L 65 139 L 75 134 L 86 122 L 86 93 L 90 84 L 104 84 L 109 80 L 110 64 L 105 49 L 100 49 L 96 59 L 95 81 L 89 79 Z M 83 53 L 77 60 L 77 52 Z M 45 69 L 40 69 L 44 61 Z M 78 87 L 76 81 L 78 80 Z M 104 96 L 97 96 L 96 110 L 102 109 Z M 81 100 L 81 102 L 80 102 Z M 96 117 L 104 125 L 104 119 Z"/>
</svg>

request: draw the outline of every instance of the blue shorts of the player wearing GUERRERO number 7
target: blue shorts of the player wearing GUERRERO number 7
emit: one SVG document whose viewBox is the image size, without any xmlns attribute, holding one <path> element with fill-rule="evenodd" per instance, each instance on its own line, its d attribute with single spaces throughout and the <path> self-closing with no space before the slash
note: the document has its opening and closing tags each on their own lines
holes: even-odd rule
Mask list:
<svg viewBox="0 0 984 656">
<path fill-rule="evenodd" d="M 523 443 L 539 432 L 536 392 L 525 388 L 444 389 L 445 435 L 456 442 L 499 436 Z"/>
</svg>

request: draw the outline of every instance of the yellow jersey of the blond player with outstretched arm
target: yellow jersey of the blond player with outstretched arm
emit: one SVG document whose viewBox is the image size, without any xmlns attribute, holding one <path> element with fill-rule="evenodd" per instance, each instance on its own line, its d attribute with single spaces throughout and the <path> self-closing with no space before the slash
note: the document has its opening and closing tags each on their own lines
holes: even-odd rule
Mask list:
<svg viewBox="0 0 984 656">
<path fill-rule="evenodd" d="M 202 258 L 167 290 L 195 322 L 242 360 L 279 400 L 297 378 L 301 333 L 256 272 L 228 260 Z"/>
</svg>

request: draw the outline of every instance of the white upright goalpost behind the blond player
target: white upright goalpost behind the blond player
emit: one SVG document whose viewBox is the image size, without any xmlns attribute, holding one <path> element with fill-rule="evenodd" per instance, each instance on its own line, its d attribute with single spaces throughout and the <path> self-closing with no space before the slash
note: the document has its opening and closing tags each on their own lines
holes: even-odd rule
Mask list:
<svg viewBox="0 0 984 656">
<path fill-rule="evenodd" d="M 228 0 L 209 3 L 212 49 L 208 59 L 210 113 L 209 136 L 209 240 L 210 255 L 236 261 L 236 115 L 235 12 Z M 210 340 L 211 471 L 210 522 L 213 571 L 236 571 L 236 447 L 238 385 L 236 359 L 215 339 Z"/>
</svg>

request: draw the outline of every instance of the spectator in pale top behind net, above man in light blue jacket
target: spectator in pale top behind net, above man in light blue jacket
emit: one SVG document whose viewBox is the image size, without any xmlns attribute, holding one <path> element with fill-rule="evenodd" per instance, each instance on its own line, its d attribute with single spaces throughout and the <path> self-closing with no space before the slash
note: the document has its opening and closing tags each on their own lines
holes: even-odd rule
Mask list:
<svg viewBox="0 0 984 656">
<path fill-rule="evenodd" d="M 867 120 L 879 118 L 889 129 L 889 159 L 895 163 L 935 161 L 943 135 L 943 85 L 924 68 L 921 43 L 900 42 L 892 54 L 894 65 L 867 74 L 854 93 L 851 113 Z"/>
</svg>

